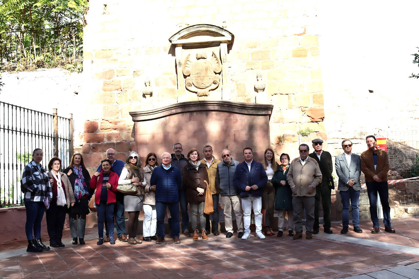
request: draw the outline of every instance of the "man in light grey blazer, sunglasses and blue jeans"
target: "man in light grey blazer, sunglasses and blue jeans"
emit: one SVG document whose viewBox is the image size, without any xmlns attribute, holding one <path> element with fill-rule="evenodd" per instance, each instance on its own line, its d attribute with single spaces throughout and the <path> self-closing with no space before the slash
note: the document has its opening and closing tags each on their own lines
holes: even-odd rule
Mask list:
<svg viewBox="0 0 419 279">
<path fill-rule="evenodd" d="M 338 190 L 342 199 L 342 225 L 341 233 L 347 233 L 349 228 L 349 201 L 352 207 L 352 225 L 355 233 L 362 233 L 360 229 L 360 176 L 361 157 L 352 153 L 352 141 L 342 141 L 344 153 L 336 156 L 335 168 L 339 177 Z"/>
</svg>

